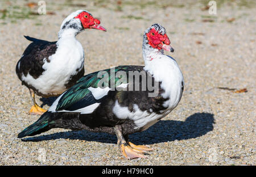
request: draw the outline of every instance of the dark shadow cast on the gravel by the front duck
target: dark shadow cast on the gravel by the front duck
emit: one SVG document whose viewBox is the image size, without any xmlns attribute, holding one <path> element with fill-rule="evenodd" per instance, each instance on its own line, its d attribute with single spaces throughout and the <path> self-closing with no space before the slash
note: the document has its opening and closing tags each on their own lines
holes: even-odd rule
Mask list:
<svg viewBox="0 0 256 177">
<path fill-rule="evenodd" d="M 214 115 L 212 113 L 194 113 L 185 121 L 161 120 L 144 132 L 129 136 L 135 144 L 156 144 L 174 140 L 196 138 L 213 130 Z M 22 141 L 44 141 L 69 138 L 72 140 L 98 141 L 116 144 L 117 138 L 107 133 L 93 133 L 86 130 L 59 132 L 37 137 L 24 138 Z"/>
</svg>

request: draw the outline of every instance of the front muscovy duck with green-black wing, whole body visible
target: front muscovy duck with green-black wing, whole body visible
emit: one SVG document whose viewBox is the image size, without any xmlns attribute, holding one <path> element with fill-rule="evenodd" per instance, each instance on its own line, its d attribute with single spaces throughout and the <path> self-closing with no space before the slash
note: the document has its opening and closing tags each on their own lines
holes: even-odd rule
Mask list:
<svg viewBox="0 0 256 177">
<path fill-rule="evenodd" d="M 52 128 L 106 132 L 116 134 L 124 157 L 146 158 L 144 153 L 152 149 L 134 145 L 128 135 L 146 130 L 167 116 L 180 102 L 184 79 L 174 58 L 163 53 L 174 49 L 160 24 L 153 24 L 144 32 L 142 49 L 145 66 L 118 66 L 85 75 L 18 137 L 34 136 Z M 130 77 L 131 73 L 139 73 L 139 77 Z M 149 81 L 156 89 L 148 87 Z M 143 90 L 144 85 L 148 86 Z"/>
</svg>

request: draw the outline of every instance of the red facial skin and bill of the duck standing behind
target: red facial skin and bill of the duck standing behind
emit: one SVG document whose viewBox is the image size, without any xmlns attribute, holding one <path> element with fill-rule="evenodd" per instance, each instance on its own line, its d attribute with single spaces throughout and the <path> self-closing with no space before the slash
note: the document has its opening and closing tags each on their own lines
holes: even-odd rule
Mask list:
<svg viewBox="0 0 256 177">
<path fill-rule="evenodd" d="M 79 15 L 77 15 L 75 18 L 80 19 L 82 26 L 86 28 L 94 28 L 94 29 L 100 29 L 102 31 L 106 31 L 106 29 L 99 24 L 101 23 L 100 20 L 93 18 L 92 15 L 90 15 L 88 12 L 81 12 Z"/>
</svg>

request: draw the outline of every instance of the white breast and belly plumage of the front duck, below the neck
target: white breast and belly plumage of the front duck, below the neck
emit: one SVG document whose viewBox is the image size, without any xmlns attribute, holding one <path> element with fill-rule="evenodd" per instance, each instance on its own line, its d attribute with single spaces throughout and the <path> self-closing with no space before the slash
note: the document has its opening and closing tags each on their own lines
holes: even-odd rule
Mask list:
<svg viewBox="0 0 256 177">
<path fill-rule="evenodd" d="M 168 56 L 160 55 L 154 56 L 154 60 L 150 60 L 150 64 L 144 67 L 144 70 L 149 71 L 155 81 L 162 82 L 161 87 L 164 89 L 163 98 L 169 98 L 163 103 L 166 110 L 160 111 L 160 114 L 150 111 L 142 111 L 137 104 L 134 104 L 133 111 L 129 111 L 128 107 L 122 107 L 118 101 L 115 101 L 113 113 L 119 119 L 131 119 L 134 121 L 135 127 L 146 130 L 158 120 L 168 115 L 174 109 L 181 99 L 181 82 L 183 82 L 183 75 L 177 66 L 176 61 Z"/>
</svg>

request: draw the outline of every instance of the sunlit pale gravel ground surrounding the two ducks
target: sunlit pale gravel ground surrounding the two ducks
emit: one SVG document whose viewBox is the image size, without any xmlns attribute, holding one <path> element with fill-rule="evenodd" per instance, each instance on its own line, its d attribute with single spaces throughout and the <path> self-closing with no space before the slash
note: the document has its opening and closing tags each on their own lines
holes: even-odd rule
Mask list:
<svg viewBox="0 0 256 177">
<path fill-rule="evenodd" d="M 0 2 L 0 165 L 255 165 L 255 38 L 253 1 L 46 1 L 36 15 L 30 1 Z M 34 1 L 37 3 L 37 1 Z M 148 130 L 130 136 L 155 150 L 147 159 L 126 160 L 117 138 L 105 133 L 51 129 L 20 140 L 17 134 L 39 116 L 28 115 L 31 99 L 15 65 L 30 43 L 23 35 L 57 40 L 65 16 L 85 9 L 108 32 L 77 36 L 86 73 L 117 65 L 143 65 L 142 34 L 153 23 L 167 29 L 183 71 L 179 106 Z M 32 11 L 32 12 L 31 12 Z M 236 93 L 218 87 L 246 88 Z M 36 97 L 48 108 L 52 99 Z"/>
</svg>

